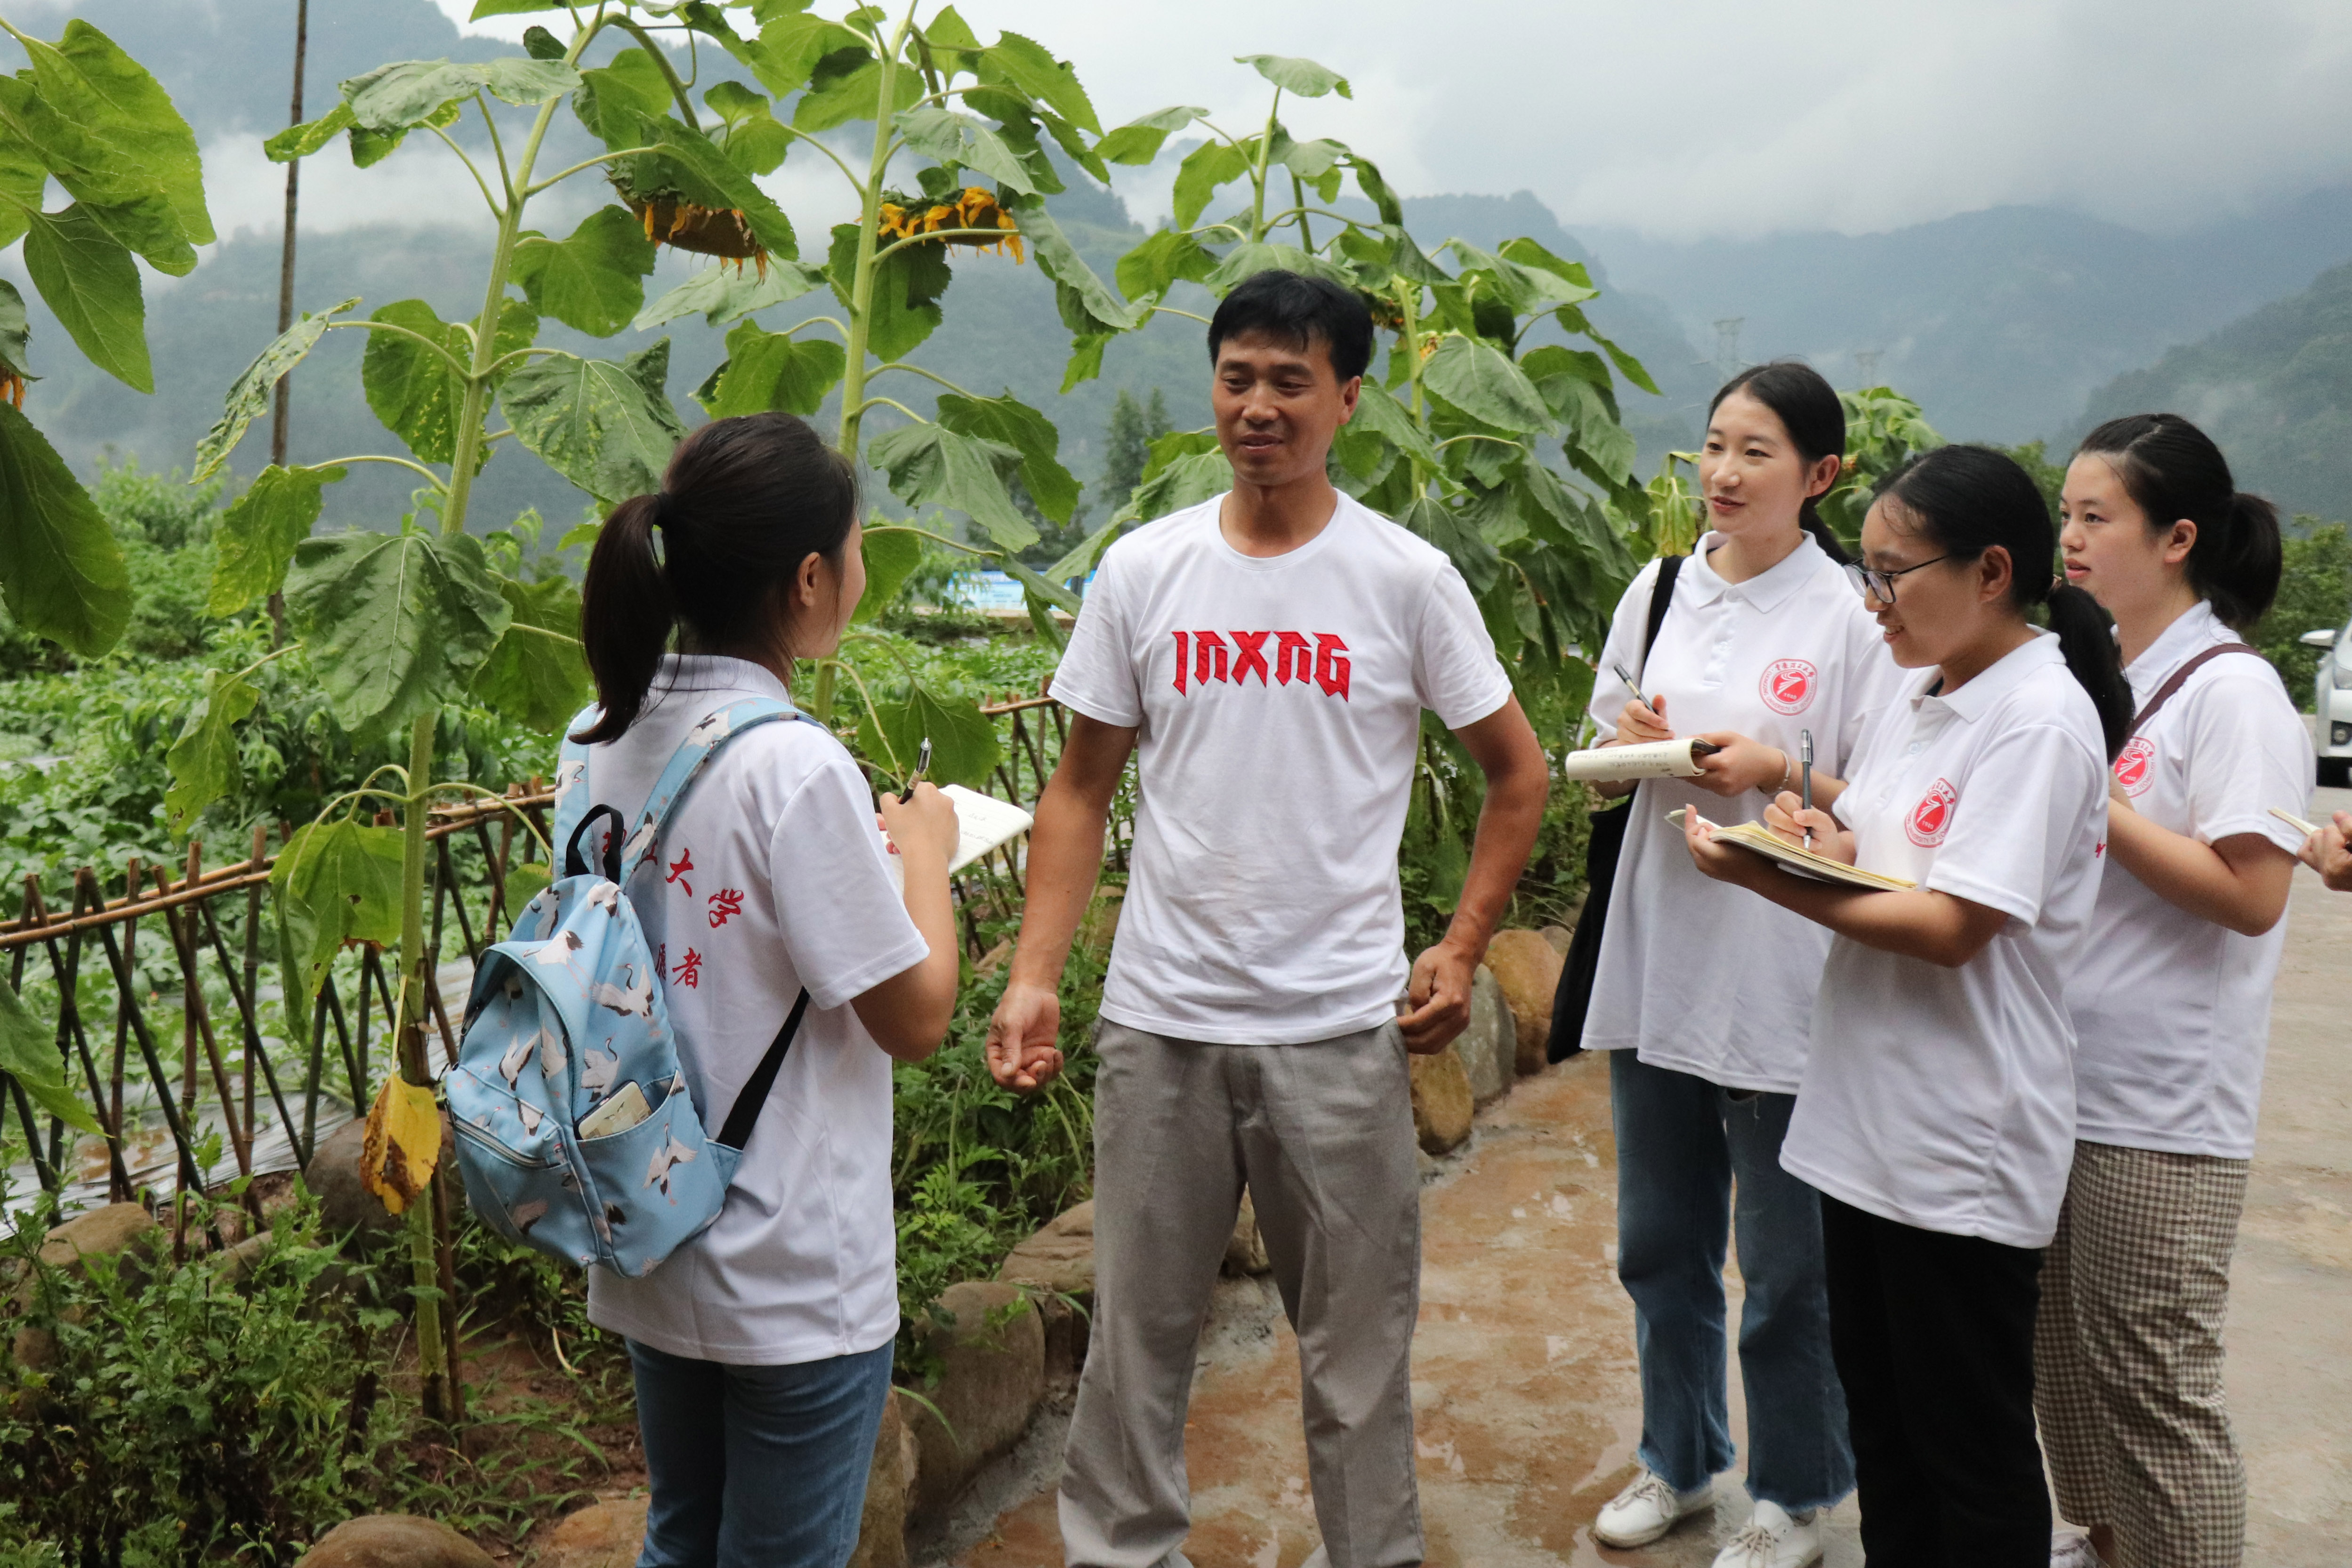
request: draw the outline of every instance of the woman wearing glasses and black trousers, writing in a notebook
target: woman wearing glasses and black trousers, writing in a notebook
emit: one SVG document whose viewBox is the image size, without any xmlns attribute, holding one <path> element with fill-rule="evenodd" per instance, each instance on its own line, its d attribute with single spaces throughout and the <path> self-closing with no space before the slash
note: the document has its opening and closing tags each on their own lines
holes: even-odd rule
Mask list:
<svg viewBox="0 0 2352 1568">
<path fill-rule="evenodd" d="M 1835 936 L 1780 1166 L 1820 1192 L 1863 1552 L 2044 1568 L 2034 1307 L 2074 1152 L 2065 983 L 2107 853 L 2131 693 L 2098 604 L 2053 588 L 2042 491 L 1983 447 L 1896 470 L 1856 578 L 1915 675 L 1849 780 L 1766 823 L 1910 891 L 1792 877 L 1686 818 L 1708 877 Z M 2049 607 L 2051 632 L 2027 614 Z"/>
</svg>

